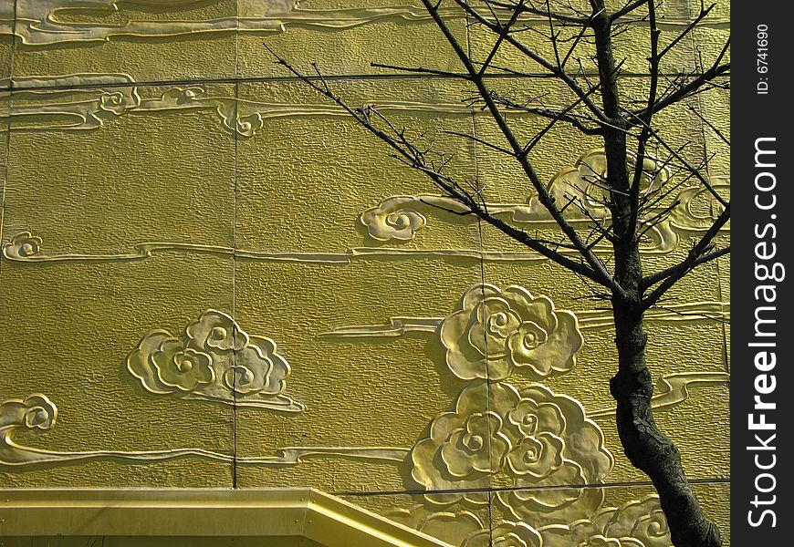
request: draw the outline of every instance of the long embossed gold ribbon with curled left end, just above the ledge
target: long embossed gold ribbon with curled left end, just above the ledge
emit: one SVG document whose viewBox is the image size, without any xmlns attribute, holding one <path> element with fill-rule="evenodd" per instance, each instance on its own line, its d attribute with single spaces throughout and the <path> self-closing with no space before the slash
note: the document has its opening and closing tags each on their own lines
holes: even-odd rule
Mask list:
<svg viewBox="0 0 794 547">
<path fill-rule="evenodd" d="M 14 439 L 16 433 L 20 431 L 47 431 L 55 426 L 56 421 L 57 407 L 41 394 L 33 394 L 24 399 L 8 399 L 0 403 L 0 470 L 69 466 L 97 460 L 146 464 L 183 458 L 267 467 L 295 466 L 303 463 L 305 459 L 329 457 L 367 459 L 394 464 L 402 463 L 410 451 L 410 449 L 392 447 L 287 447 L 277 449 L 275 456 L 244 457 L 204 449 L 67 452 L 30 447 Z"/>
</svg>

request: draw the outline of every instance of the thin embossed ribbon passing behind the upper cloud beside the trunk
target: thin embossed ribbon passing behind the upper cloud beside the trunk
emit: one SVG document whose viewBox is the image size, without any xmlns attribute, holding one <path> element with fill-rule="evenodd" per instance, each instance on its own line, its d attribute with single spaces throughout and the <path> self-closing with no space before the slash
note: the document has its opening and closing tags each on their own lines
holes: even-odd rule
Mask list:
<svg viewBox="0 0 794 547">
<path fill-rule="evenodd" d="M 581 330 L 597 330 L 614 325 L 609 310 L 580 310 L 575 312 Z M 729 302 L 691 302 L 670 304 L 645 312 L 645 320 L 652 323 L 689 323 L 696 321 L 730 321 Z M 319 338 L 398 338 L 411 333 L 434 334 L 444 317 L 390 317 L 383 325 L 339 326 L 320 333 Z"/>
</svg>

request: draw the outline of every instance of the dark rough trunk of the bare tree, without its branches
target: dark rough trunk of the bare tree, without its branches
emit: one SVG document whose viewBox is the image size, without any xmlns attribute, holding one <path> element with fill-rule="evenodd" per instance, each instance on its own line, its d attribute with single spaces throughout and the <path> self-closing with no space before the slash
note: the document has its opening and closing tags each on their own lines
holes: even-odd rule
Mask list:
<svg viewBox="0 0 794 547">
<path fill-rule="evenodd" d="M 623 451 L 632 465 L 642 470 L 659 494 L 662 510 L 675 547 L 719 547 L 716 527 L 705 519 L 681 465 L 673 441 L 656 427 L 651 397 L 653 380 L 645 363 L 647 335 L 643 331 L 643 264 L 636 225 L 639 204 L 631 191 L 626 168 L 627 148 L 623 129 L 617 70 L 612 54 L 611 20 L 602 0 L 592 23 L 596 39 L 599 77 L 603 89 L 604 113 L 614 129 L 604 133 L 607 183 L 611 189 L 614 230 L 615 281 L 622 294 L 612 293 L 618 372 L 611 378 L 610 391 L 617 403 L 617 428 Z"/>
</svg>

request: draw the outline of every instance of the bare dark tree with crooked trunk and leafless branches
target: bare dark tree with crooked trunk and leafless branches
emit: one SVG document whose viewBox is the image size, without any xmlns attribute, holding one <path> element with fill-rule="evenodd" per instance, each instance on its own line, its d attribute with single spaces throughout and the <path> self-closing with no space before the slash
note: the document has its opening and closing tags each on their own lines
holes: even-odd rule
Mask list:
<svg viewBox="0 0 794 547">
<path fill-rule="evenodd" d="M 498 218 L 489 211 L 476 185 L 449 174 L 444 169 L 444 156 L 436 154 L 423 139 L 410 137 L 406 129 L 392 124 L 375 107 L 350 107 L 332 90 L 317 66 L 315 74 L 307 76 L 271 53 L 278 64 L 347 110 L 361 126 L 388 144 L 393 156 L 423 172 L 446 197 L 459 203 L 460 209 L 455 207 L 451 212 L 476 215 L 507 237 L 580 275 L 591 287 L 597 287 L 591 296 L 611 303 L 615 324 L 618 363 L 610 388 L 617 401 L 617 426 L 624 452 L 634 467 L 648 475 L 659 493 L 674 545 L 720 545 L 716 527 L 705 518 L 686 480 L 678 449 L 654 423 L 653 382 L 646 364 L 647 335 L 643 331 L 643 315 L 650 308 L 662 305 L 663 296 L 674 284 L 698 265 L 730 251 L 727 246 L 716 246 L 716 236 L 730 216 L 730 202 L 709 181 L 709 158 L 705 150 L 698 160 L 688 159 L 691 154 L 685 150 L 687 145 L 674 145 L 665 139 L 656 119 L 660 111 L 687 105 L 688 99 L 697 94 L 727 88 L 728 42 L 705 65 L 698 58 L 697 67 L 674 75 L 665 74 L 661 68 L 672 52 L 684 42 L 689 43 L 714 5 L 700 5 L 690 22 L 674 31 L 673 37 L 664 43 L 660 40 L 662 31 L 657 15 L 661 2 L 656 0 L 623 0 L 612 9 L 604 0 L 589 0 L 579 5 L 574 0 L 438 0 L 437 3 L 423 0 L 423 5 L 463 69 L 450 72 L 428 67 L 375 63 L 373 66 L 454 78 L 471 86 L 472 94 L 465 101 L 496 122 L 501 139 L 489 141 L 471 134 L 455 135 L 474 140 L 520 166 L 538 201 L 562 232 L 564 237 L 559 240 L 529 234 Z M 458 15 L 465 15 L 470 26 L 493 37 L 490 51 L 483 58 L 475 58 L 448 25 L 454 10 L 461 10 Z M 616 46 L 630 28 L 645 30 L 646 43 L 641 45 L 636 40 L 626 43 L 632 49 L 629 53 L 636 55 L 633 52 L 641 51 L 648 65 L 646 74 L 641 77 L 634 74 L 631 80 L 622 77 L 624 61 L 631 55 L 619 59 L 620 47 Z M 529 74 L 526 68 L 501 66 L 497 59 L 503 49 L 511 50 L 511 58 L 523 57 L 522 61 L 529 62 L 522 66 L 539 68 L 545 77 L 561 82 L 572 97 L 569 104 L 550 106 L 542 98 L 524 99 L 497 93 L 498 76 L 538 76 L 537 72 Z M 541 54 L 541 50 L 546 53 Z M 643 90 L 641 98 L 638 89 Z M 689 108 L 720 139 L 726 140 L 696 108 Z M 531 139 L 523 141 L 511 124 L 513 113 L 519 112 L 548 119 L 548 123 Z M 548 191 L 532 160 L 538 143 L 559 124 L 600 139 L 607 164 L 605 173 L 591 173 L 591 191 L 566 196 L 564 202 Z M 647 181 L 649 170 L 660 169 L 672 170 L 676 176 L 673 181 L 648 191 L 643 187 L 643 178 Z M 650 176 L 653 178 L 653 172 Z M 678 202 L 674 200 L 674 191 L 695 183 L 712 194 L 721 211 L 683 260 L 661 271 L 644 273 L 640 251 L 648 232 L 675 211 Z M 600 204 L 608 213 L 591 214 L 593 203 Z M 585 222 L 572 221 L 566 213 L 569 208 L 585 215 Z M 609 261 L 597 253 L 597 244 L 611 246 Z"/>
</svg>

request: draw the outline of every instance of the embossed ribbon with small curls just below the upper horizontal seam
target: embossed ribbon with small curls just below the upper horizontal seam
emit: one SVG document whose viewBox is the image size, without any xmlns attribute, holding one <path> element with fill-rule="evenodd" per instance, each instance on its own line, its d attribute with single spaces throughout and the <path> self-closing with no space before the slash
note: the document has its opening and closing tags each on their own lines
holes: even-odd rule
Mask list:
<svg viewBox="0 0 794 547">
<path fill-rule="evenodd" d="M 64 77 L 16 78 L 19 86 L 36 87 L 33 91 L 19 91 L 19 97 L 32 95 L 35 101 L 15 102 L 10 112 L 0 113 L 0 119 L 13 120 L 11 131 L 91 130 L 125 115 L 151 112 L 181 112 L 204 110 L 214 112 L 223 127 L 241 137 L 253 137 L 267 119 L 304 116 L 347 117 L 340 108 L 323 104 L 295 105 L 288 103 L 257 102 L 245 99 L 207 95 L 200 86 L 167 89 L 159 98 L 141 98 L 138 88 L 121 87 L 113 91 L 79 89 L 83 85 L 129 84 L 132 78 L 123 74 L 81 74 Z M 76 87 L 77 89 L 54 89 Z M 76 96 L 78 96 L 76 98 Z M 444 103 L 419 103 L 391 101 L 378 103 L 384 112 L 416 112 L 450 115 L 470 115 L 464 106 Z"/>
</svg>

